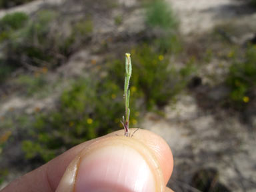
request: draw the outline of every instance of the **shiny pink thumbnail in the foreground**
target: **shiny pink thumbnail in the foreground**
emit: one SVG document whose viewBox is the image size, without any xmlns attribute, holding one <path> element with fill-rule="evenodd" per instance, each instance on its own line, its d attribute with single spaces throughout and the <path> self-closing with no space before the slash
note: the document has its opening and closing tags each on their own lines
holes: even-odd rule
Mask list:
<svg viewBox="0 0 256 192">
<path fill-rule="evenodd" d="M 143 157 L 127 146 L 107 146 L 82 159 L 76 191 L 155 191 L 153 174 Z"/>
</svg>

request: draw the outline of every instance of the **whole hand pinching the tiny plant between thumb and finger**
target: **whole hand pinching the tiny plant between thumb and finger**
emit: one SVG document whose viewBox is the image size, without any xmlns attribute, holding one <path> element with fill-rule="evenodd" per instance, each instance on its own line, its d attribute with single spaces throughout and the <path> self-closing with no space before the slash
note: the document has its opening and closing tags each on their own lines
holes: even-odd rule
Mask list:
<svg viewBox="0 0 256 192">
<path fill-rule="evenodd" d="M 117 135 L 123 130 L 81 143 L 1 192 L 170 192 L 165 185 L 173 171 L 173 155 L 167 143 L 143 129 L 132 138 Z"/>
</svg>

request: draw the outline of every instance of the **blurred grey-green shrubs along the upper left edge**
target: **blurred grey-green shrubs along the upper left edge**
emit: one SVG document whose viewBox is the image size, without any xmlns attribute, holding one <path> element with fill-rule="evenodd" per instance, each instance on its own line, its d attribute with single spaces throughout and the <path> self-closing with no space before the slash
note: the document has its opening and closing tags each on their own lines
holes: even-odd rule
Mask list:
<svg viewBox="0 0 256 192">
<path fill-rule="evenodd" d="M 69 33 L 56 28 L 59 17 L 53 10 L 42 10 L 33 19 L 17 12 L 0 20 L 0 46 L 3 51 L 0 82 L 19 67 L 29 71 L 40 70 L 40 67 L 55 69 L 89 40 L 93 31 L 90 17 L 66 23 L 70 27 Z"/>
</svg>

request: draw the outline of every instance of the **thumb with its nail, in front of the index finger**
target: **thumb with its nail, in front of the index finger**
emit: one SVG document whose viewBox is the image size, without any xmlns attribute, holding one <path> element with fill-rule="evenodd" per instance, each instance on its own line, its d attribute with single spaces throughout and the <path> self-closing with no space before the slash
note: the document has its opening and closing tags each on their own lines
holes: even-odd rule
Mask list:
<svg viewBox="0 0 256 192">
<path fill-rule="evenodd" d="M 107 137 L 71 161 L 56 191 L 160 192 L 165 191 L 165 179 L 147 145 L 131 137 Z"/>
</svg>

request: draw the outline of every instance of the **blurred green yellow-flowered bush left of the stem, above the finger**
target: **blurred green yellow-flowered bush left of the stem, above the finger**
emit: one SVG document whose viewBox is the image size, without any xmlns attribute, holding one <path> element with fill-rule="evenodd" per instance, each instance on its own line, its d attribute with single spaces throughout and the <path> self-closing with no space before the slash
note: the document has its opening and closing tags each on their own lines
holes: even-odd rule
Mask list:
<svg viewBox="0 0 256 192">
<path fill-rule="evenodd" d="M 131 110 L 132 126 L 136 113 L 132 103 Z M 123 91 L 117 85 L 107 79 L 81 79 L 63 92 L 55 110 L 38 115 L 23 151 L 29 159 L 49 161 L 74 145 L 121 129 L 123 113 Z"/>
</svg>

